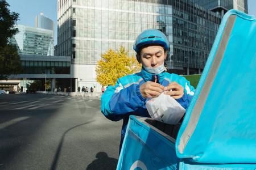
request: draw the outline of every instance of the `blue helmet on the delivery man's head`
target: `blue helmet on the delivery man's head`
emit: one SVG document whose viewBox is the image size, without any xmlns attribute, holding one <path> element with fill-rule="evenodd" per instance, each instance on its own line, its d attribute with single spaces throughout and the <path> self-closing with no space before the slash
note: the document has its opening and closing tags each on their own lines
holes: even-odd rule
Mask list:
<svg viewBox="0 0 256 170">
<path fill-rule="evenodd" d="M 160 44 L 167 50 L 169 42 L 164 33 L 158 29 L 146 29 L 138 35 L 134 42 L 133 49 L 138 53 L 141 46 L 146 44 Z"/>
</svg>

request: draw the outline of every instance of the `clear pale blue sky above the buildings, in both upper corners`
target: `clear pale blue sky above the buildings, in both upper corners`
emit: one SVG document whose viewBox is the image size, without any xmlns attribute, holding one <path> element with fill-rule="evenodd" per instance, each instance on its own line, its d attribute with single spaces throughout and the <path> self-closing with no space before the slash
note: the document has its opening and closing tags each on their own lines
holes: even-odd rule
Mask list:
<svg viewBox="0 0 256 170">
<path fill-rule="evenodd" d="M 19 13 L 18 24 L 35 27 L 36 15 L 43 13 L 55 24 L 55 45 L 57 42 L 57 0 L 6 0 L 10 10 Z M 248 13 L 256 16 L 256 1 L 248 0 Z"/>
</svg>

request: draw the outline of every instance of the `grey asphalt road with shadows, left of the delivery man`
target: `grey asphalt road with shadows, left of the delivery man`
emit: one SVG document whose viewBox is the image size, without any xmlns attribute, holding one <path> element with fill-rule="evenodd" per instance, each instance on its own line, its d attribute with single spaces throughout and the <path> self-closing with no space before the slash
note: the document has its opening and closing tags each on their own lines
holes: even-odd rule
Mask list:
<svg viewBox="0 0 256 170">
<path fill-rule="evenodd" d="M 122 121 L 99 99 L 0 95 L 0 169 L 115 169 Z"/>
</svg>

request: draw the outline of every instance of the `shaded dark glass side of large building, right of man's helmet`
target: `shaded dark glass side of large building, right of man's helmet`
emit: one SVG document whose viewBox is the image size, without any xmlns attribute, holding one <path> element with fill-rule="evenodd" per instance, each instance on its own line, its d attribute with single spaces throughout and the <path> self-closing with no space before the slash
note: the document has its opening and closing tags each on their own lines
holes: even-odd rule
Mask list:
<svg viewBox="0 0 256 170">
<path fill-rule="evenodd" d="M 200 74 L 212 48 L 221 16 L 191 1 L 173 1 L 170 58 L 171 73 Z M 168 68 L 167 67 L 167 68 Z"/>
</svg>

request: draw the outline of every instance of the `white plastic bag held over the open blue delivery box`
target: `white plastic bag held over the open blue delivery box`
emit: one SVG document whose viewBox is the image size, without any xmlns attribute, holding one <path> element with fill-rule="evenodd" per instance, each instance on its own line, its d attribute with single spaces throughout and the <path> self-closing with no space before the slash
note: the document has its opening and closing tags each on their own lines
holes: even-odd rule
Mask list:
<svg viewBox="0 0 256 170">
<path fill-rule="evenodd" d="M 146 108 L 155 120 L 173 125 L 180 121 L 186 111 L 174 98 L 163 93 L 148 100 Z"/>
</svg>

